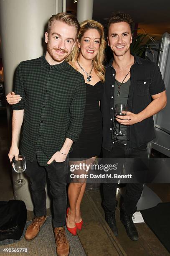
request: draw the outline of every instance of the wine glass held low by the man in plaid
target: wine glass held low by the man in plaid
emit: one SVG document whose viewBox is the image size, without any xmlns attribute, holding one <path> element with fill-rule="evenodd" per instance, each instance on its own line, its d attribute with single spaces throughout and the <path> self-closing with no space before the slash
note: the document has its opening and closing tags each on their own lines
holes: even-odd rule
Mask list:
<svg viewBox="0 0 170 256">
<path fill-rule="evenodd" d="M 15 172 L 19 173 L 19 179 L 17 181 L 15 181 L 15 184 L 19 187 L 25 185 L 25 180 L 20 178 L 20 174 L 21 172 L 24 172 L 26 169 L 26 160 L 25 160 L 25 156 L 18 156 L 18 160 L 14 159 L 13 161 L 13 169 Z"/>
</svg>

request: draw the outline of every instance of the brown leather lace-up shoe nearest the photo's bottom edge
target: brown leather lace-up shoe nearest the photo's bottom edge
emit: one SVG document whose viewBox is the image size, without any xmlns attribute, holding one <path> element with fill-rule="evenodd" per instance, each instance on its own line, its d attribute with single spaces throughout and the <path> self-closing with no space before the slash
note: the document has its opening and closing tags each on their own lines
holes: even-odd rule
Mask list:
<svg viewBox="0 0 170 256">
<path fill-rule="evenodd" d="M 58 256 L 69 255 L 69 241 L 66 238 L 66 232 L 64 227 L 54 228 L 55 239 L 56 239 L 56 252 Z"/>
</svg>

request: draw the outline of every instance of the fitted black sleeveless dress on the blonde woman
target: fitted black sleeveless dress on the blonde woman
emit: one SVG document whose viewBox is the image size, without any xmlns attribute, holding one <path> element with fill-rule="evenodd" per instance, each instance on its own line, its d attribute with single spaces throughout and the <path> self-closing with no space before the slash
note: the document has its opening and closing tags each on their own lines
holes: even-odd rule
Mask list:
<svg viewBox="0 0 170 256">
<path fill-rule="evenodd" d="M 103 95 L 101 81 L 94 86 L 86 84 L 86 106 L 84 110 L 83 127 L 79 139 L 73 143 L 73 151 L 69 160 L 83 160 L 99 156 L 102 142 L 102 118 L 99 101 Z"/>
</svg>

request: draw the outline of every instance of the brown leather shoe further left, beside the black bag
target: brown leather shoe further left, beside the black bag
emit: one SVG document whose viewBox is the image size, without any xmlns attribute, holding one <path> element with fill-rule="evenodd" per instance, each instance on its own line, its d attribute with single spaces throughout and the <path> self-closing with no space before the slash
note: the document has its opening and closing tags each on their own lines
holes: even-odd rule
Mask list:
<svg viewBox="0 0 170 256">
<path fill-rule="evenodd" d="M 39 231 L 41 226 L 44 224 L 44 222 L 46 221 L 47 217 L 35 217 L 33 219 L 33 222 L 28 226 L 26 232 L 25 232 L 25 239 L 27 241 L 32 240 L 33 238 L 35 238 Z"/>
</svg>

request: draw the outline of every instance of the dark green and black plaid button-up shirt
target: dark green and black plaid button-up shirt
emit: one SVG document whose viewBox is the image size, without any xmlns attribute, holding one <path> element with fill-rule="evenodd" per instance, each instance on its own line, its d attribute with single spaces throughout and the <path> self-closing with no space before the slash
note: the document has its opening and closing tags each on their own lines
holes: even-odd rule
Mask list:
<svg viewBox="0 0 170 256">
<path fill-rule="evenodd" d="M 51 66 L 42 56 L 19 64 L 15 93 L 22 100 L 13 110 L 24 109 L 20 153 L 47 166 L 66 138 L 79 138 L 86 102 L 84 77 L 66 61 Z"/>
</svg>

